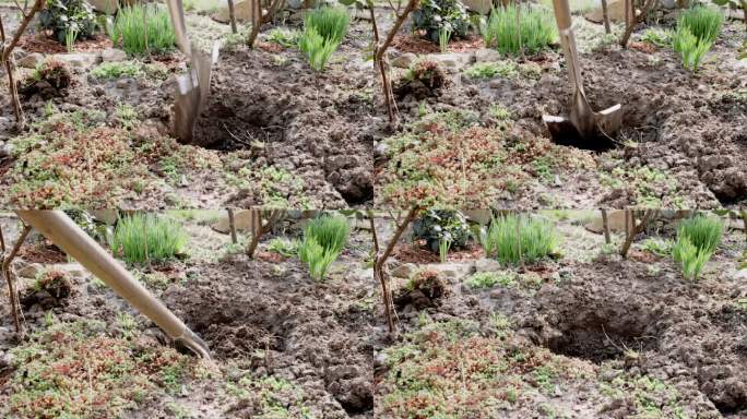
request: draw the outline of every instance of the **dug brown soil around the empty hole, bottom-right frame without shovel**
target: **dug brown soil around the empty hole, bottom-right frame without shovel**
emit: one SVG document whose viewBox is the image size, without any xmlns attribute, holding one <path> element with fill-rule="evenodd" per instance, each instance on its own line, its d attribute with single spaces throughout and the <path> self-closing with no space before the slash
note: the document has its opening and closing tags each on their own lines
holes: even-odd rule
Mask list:
<svg viewBox="0 0 747 419">
<path fill-rule="evenodd" d="M 744 414 L 747 316 L 727 302 L 733 292 L 728 284 L 653 279 L 642 264 L 595 263 L 561 287 L 543 288 L 523 325 L 564 355 L 598 361 L 636 350 L 640 371 L 702 393 L 723 415 Z"/>
</svg>

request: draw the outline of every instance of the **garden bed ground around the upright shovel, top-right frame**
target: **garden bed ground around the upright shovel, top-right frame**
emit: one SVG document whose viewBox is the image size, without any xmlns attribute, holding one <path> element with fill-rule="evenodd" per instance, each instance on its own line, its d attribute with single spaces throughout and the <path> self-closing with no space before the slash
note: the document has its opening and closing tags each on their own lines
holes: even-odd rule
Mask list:
<svg viewBox="0 0 747 419">
<path fill-rule="evenodd" d="M 377 204 L 742 205 L 747 192 L 739 163 L 747 155 L 747 87 L 738 75 L 745 63 L 737 60 L 743 25 L 724 26 L 696 74 L 683 69 L 668 46 L 637 40 L 643 28 L 628 49 L 583 17 L 574 17 L 574 28 L 589 101 L 594 109 L 617 103 L 624 108 L 612 149 L 577 149 L 550 140 L 542 116 L 567 115 L 571 101 L 559 51 L 524 58 L 485 49 L 431 53 L 452 83 L 400 99 L 404 133 L 377 145 Z M 454 116 L 461 125 L 446 122 Z M 437 132 L 443 129 L 450 135 Z"/>
</svg>

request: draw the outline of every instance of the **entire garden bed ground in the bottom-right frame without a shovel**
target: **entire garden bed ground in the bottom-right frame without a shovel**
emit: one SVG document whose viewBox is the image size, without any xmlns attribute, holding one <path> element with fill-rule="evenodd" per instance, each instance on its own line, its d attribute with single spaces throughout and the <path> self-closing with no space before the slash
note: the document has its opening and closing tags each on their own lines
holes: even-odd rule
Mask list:
<svg viewBox="0 0 747 419">
<path fill-rule="evenodd" d="M 491 223 L 490 211 L 465 214 L 478 225 Z M 438 263 L 414 256 L 403 248 L 416 244 L 400 240 L 391 261 L 398 266 L 391 287 L 400 335 L 391 339 L 380 319 L 376 416 L 742 415 L 744 392 L 727 384 L 744 381 L 744 366 L 733 357 L 742 350 L 740 332 L 722 328 L 735 324 L 733 313 L 742 307 L 736 296 L 744 292 L 734 292 L 745 282 L 740 224 L 724 229 L 714 214 L 661 212 L 647 219 L 624 259 L 605 250 L 621 246 L 620 215 L 609 212 L 603 222 L 597 211 L 523 214 L 552 225 L 561 238 L 557 259 L 523 265 L 497 263 L 488 252 Z M 380 223 L 402 220 L 391 217 Z M 664 250 L 671 247 L 662 244 L 685 236 L 715 249 L 719 266 L 706 267 L 697 283 L 679 275 Z M 414 286 L 423 273 L 438 279 Z M 691 312 L 695 295 L 703 313 Z M 718 352 L 702 348 L 707 343 Z M 689 363 L 692 357 L 715 357 L 739 372 L 703 378 Z"/>
</svg>

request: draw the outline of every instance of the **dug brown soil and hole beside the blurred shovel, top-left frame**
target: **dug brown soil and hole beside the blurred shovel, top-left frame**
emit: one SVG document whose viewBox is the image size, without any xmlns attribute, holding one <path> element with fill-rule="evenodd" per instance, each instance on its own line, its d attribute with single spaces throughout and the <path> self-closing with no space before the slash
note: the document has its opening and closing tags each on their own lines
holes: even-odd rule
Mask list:
<svg viewBox="0 0 747 419">
<path fill-rule="evenodd" d="M 346 48 L 337 52 L 346 53 Z M 195 142 L 251 151 L 252 167 L 272 165 L 301 178 L 305 193 L 321 196 L 325 207 L 370 201 L 374 136 L 383 127 L 364 94 L 374 81 L 354 65 L 331 64 L 316 73 L 296 51 L 226 51 L 215 68 Z M 232 202 L 263 204 L 251 193 Z"/>
</svg>

